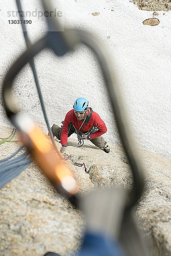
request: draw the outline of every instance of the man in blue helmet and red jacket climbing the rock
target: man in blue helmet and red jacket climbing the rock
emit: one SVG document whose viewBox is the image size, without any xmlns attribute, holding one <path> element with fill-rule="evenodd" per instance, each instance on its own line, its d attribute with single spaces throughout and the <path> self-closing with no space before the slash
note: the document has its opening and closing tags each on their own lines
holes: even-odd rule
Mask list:
<svg viewBox="0 0 171 256">
<path fill-rule="evenodd" d="M 90 140 L 97 147 L 103 148 L 106 153 L 110 151 L 109 145 L 101 137 L 107 131 L 106 125 L 100 116 L 89 107 L 85 98 L 75 100 L 73 109 L 65 116 L 62 128 L 53 124 L 51 130 L 53 136 L 61 140 L 62 153 L 67 145 L 67 137 L 73 133 L 76 133 L 78 137 L 82 135 L 84 140 Z"/>
</svg>

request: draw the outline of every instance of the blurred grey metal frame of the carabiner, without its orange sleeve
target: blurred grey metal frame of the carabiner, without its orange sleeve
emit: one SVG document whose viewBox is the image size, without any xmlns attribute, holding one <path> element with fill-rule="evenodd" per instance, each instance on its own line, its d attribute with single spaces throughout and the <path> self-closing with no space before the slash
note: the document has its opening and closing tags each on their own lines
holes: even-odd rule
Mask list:
<svg viewBox="0 0 171 256">
<path fill-rule="evenodd" d="M 43 0 L 43 6 L 46 11 L 51 9 L 49 0 Z M 30 45 L 28 49 L 14 62 L 6 74 L 6 78 L 3 82 L 3 105 L 6 110 L 6 114 L 20 131 L 24 131 L 22 130 L 23 121 L 21 118 L 18 118 L 20 110 L 17 108 L 14 101 L 12 84 L 18 72 L 27 62 L 32 60 L 35 55 L 41 52 L 41 50 L 44 48 L 50 48 L 56 55 L 62 56 L 69 51 L 73 52 L 74 48 L 81 43 L 92 49 L 96 55 L 97 61 L 99 61 L 99 65 L 103 73 L 113 112 L 116 117 L 119 134 L 133 172 L 133 189 L 130 192 L 126 206 L 129 209 L 136 204 L 142 194 L 144 185 L 143 168 L 140 163 L 140 157 L 137 153 L 137 149 L 134 145 L 133 136 L 130 132 L 130 125 L 128 123 L 122 96 L 120 94 L 119 81 L 116 76 L 115 68 L 110 61 L 110 55 L 107 53 L 104 45 L 101 44 L 94 35 L 91 35 L 88 32 L 79 29 L 64 29 L 64 31 L 61 31 L 60 22 L 55 17 L 47 17 L 47 24 L 47 34 L 35 44 Z M 28 135 L 27 132 L 26 134 Z M 34 155 L 37 156 L 37 154 Z M 36 157 L 35 160 L 38 162 Z M 44 172 L 48 175 L 49 171 L 45 170 Z"/>
</svg>

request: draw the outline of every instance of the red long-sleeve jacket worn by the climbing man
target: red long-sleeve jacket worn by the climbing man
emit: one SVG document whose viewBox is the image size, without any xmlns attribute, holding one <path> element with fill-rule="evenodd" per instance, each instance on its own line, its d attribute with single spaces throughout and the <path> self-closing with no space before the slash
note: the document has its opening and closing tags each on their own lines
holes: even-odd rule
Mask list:
<svg viewBox="0 0 171 256">
<path fill-rule="evenodd" d="M 84 120 L 83 120 L 84 121 Z M 70 131 L 71 125 L 75 127 L 75 129 L 79 130 L 80 126 L 82 125 L 83 121 L 79 121 L 74 113 L 74 110 L 70 110 L 64 120 L 64 124 L 62 127 L 61 132 L 61 144 L 67 145 L 67 139 L 68 139 L 68 133 Z M 84 121 L 84 124 L 82 125 L 81 129 L 79 131 L 86 132 L 90 131 L 90 129 L 96 126 L 99 128 L 99 130 L 95 131 L 93 134 L 90 134 L 90 140 L 96 137 L 101 136 L 105 132 L 107 132 L 106 125 L 104 121 L 100 118 L 100 116 L 92 110 L 92 108 L 88 108 L 87 110 L 87 117 Z"/>
</svg>

